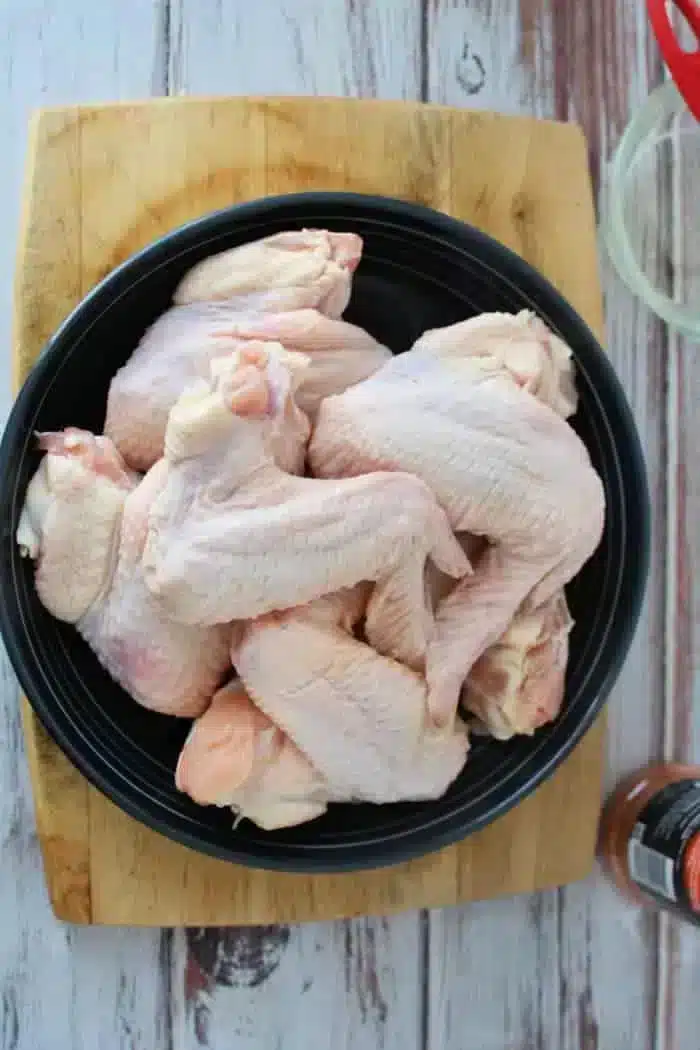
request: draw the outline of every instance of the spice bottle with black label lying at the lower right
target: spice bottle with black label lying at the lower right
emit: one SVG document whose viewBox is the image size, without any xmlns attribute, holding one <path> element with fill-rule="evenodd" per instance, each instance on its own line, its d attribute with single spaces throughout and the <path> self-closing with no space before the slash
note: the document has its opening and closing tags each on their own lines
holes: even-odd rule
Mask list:
<svg viewBox="0 0 700 1050">
<path fill-rule="evenodd" d="M 700 925 L 700 765 L 627 777 L 603 810 L 599 852 L 628 898 Z"/>
</svg>

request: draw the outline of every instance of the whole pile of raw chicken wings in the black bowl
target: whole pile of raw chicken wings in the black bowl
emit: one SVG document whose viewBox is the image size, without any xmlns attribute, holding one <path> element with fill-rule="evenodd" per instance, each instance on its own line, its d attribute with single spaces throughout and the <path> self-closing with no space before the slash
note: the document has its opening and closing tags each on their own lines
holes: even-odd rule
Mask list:
<svg viewBox="0 0 700 1050">
<path fill-rule="evenodd" d="M 195 266 L 104 435 L 38 435 L 17 534 L 133 699 L 194 718 L 177 786 L 263 828 L 438 798 L 472 729 L 553 718 L 603 523 L 569 349 L 525 312 L 393 357 L 340 319 L 361 252 L 305 230 Z"/>
</svg>

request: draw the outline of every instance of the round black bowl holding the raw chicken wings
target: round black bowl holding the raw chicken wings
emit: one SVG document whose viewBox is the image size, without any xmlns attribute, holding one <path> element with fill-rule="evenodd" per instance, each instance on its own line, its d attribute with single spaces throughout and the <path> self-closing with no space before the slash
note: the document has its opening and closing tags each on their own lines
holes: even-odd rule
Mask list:
<svg viewBox="0 0 700 1050">
<path fill-rule="evenodd" d="M 573 424 L 602 478 L 607 516 L 595 555 L 569 588 L 576 627 L 567 697 L 532 739 L 478 741 L 436 802 L 333 805 L 296 828 L 263 833 L 181 795 L 173 770 L 188 723 L 137 707 L 77 632 L 40 605 L 14 540 L 37 466 L 35 430 L 102 429 L 109 381 L 194 262 L 288 228 L 353 230 L 365 251 L 347 317 L 395 353 L 428 328 L 484 311 L 535 310 L 570 344 L 580 406 Z M 382 197 L 305 193 L 240 205 L 163 237 L 98 286 L 45 348 L 0 447 L 0 629 L 48 732 L 127 813 L 189 846 L 256 867 L 323 872 L 391 864 L 463 838 L 524 798 L 569 754 L 603 705 L 627 654 L 648 571 L 644 463 L 620 384 L 572 308 L 523 259 L 445 215 Z"/>
</svg>

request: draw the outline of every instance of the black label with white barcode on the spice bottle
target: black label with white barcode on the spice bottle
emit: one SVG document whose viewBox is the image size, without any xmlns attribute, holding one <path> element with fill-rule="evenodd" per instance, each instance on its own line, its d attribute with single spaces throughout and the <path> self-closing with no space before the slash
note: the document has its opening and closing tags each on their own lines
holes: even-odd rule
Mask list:
<svg viewBox="0 0 700 1050">
<path fill-rule="evenodd" d="M 646 896 L 700 925 L 700 780 L 677 780 L 651 797 L 628 843 L 628 866 Z"/>
</svg>

